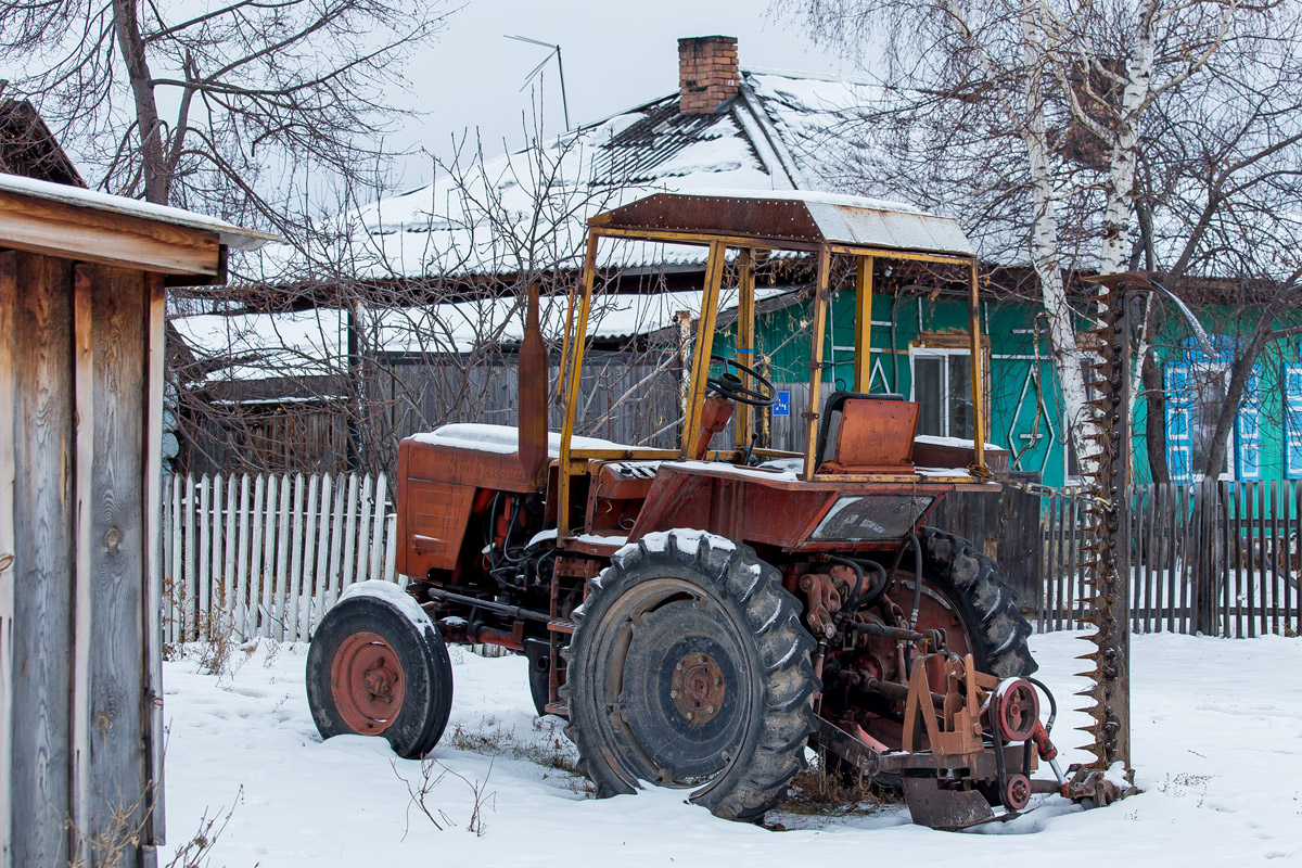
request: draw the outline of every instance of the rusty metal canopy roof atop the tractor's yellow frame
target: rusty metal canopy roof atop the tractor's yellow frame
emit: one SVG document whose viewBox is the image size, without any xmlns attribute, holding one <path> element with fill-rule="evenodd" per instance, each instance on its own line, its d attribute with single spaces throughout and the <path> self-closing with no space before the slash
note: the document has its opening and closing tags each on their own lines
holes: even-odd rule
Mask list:
<svg viewBox="0 0 1302 868">
<path fill-rule="evenodd" d="M 758 246 L 792 250 L 833 245 L 953 256 L 975 252 L 949 217 L 898 202 L 803 190 L 656 193 L 599 213 L 589 226 L 652 238 L 678 233 L 745 238 Z M 665 239 L 690 242 L 681 237 Z"/>
</svg>

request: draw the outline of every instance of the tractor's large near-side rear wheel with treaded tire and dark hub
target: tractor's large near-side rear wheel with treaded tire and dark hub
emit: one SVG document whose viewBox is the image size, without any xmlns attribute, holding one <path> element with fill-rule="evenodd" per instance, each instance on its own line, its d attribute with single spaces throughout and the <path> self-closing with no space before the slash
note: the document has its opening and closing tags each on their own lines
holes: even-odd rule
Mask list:
<svg viewBox="0 0 1302 868">
<path fill-rule="evenodd" d="M 760 820 L 816 727 L 814 639 L 755 552 L 700 531 L 648 534 L 574 613 L 566 733 L 599 796 L 641 781 Z"/>
</svg>

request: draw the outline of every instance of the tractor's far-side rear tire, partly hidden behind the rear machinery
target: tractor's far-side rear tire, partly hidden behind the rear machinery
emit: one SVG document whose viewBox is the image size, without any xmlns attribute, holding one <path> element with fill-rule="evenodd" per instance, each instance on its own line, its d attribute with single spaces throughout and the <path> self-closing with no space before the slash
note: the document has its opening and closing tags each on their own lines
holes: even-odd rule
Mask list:
<svg viewBox="0 0 1302 868">
<path fill-rule="evenodd" d="M 1014 591 L 999 566 L 971 541 L 923 527 L 922 574 L 949 597 L 967 626 L 976 669 L 1000 678 L 1030 675 L 1039 665 L 1026 645 L 1031 625 L 1017 608 Z"/>
</svg>

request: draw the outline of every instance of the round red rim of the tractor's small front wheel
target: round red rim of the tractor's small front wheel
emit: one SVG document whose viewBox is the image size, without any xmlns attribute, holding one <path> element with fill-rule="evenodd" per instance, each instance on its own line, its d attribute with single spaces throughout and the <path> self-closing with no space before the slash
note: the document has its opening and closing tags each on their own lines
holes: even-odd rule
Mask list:
<svg viewBox="0 0 1302 868">
<path fill-rule="evenodd" d="M 402 711 L 406 675 L 393 647 L 374 632 L 354 632 L 335 652 L 329 688 L 354 733 L 379 735 Z"/>
</svg>

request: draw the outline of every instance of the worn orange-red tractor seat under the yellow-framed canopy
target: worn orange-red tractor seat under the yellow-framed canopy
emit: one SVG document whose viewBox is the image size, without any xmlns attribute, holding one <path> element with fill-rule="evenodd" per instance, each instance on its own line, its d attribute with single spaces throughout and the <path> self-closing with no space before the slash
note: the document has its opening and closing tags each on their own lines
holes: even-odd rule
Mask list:
<svg viewBox="0 0 1302 868">
<path fill-rule="evenodd" d="M 828 461 L 828 441 L 836 452 Z M 898 474 L 913 471 L 918 405 L 902 394 L 833 392 L 823 405 L 814 466 L 825 474 Z"/>
</svg>

